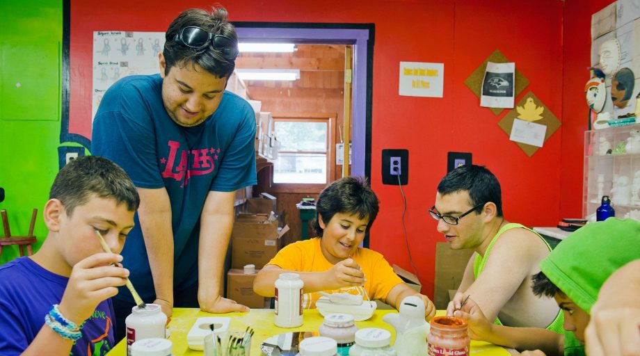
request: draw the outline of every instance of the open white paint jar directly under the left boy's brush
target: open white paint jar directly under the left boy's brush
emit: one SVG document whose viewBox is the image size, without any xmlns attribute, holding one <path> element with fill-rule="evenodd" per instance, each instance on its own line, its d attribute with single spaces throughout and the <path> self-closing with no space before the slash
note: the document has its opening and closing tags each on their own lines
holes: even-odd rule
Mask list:
<svg viewBox="0 0 640 356">
<path fill-rule="evenodd" d="M 157 304 L 131 308 L 125 319 L 127 325 L 127 356 L 131 356 L 131 345 L 143 339 L 166 339 L 167 316 Z"/>
</svg>

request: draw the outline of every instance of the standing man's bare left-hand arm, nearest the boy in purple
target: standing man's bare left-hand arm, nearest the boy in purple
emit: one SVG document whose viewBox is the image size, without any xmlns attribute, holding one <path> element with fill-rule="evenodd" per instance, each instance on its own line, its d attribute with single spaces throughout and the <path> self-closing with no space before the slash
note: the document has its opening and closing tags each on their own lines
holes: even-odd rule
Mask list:
<svg viewBox="0 0 640 356">
<path fill-rule="evenodd" d="M 156 298 L 173 305 L 173 229 L 171 206 L 164 188 L 138 188 L 138 219 L 147 248 Z M 123 261 L 125 266 L 127 261 Z"/>
</svg>

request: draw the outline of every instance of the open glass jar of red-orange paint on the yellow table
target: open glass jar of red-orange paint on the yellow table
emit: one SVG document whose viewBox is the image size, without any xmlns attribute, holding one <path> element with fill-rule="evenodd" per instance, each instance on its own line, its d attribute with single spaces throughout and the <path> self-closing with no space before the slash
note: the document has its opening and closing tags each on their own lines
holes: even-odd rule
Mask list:
<svg viewBox="0 0 640 356">
<path fill-rule="evenodd" d="M 467 322 L 455 316 L 431 319 L 431 331 L 426 337 L 429 356 L 469 356 L 471 339 Z"/>
</svg>

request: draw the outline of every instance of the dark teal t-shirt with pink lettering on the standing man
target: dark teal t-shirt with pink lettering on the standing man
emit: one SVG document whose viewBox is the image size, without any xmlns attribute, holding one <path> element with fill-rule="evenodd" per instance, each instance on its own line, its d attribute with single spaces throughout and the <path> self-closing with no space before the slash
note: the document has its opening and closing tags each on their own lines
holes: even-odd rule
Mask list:
<svg viewBox="0 0 640 356">
<path fill-rule="evenodd" d="M 195 127 L 169 117 L 159 74 L 126 76 L 102 97 L 93 122 L 92 154 L 122 167 L 138 188 L 165 188 L 171 204 L 174 290 L 198 280 L 200 213 L 209 191 L 231 192 L 257 183 L 255 113 L 225 91 L 220 105 Z M 155 291 L 138 215 L 127 236 L 122 264 L 143 300 Z M 134 302 L 122 287 L 120 300 Z"/>
</svg>

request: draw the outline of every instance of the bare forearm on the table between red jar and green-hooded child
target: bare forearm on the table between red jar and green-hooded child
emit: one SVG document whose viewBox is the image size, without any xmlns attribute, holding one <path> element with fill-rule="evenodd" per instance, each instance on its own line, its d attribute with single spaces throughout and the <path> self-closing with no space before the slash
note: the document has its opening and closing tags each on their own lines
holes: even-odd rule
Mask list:
<svg viewBox="0 0 640 356">
<path fill-rule="evenodd" d="M 516 350 L 542 350 L 547 356 L 563 355 L 561 334 L 538 327 L 509 327 L 492 324 L 484 341 Z"/>
</svg>

